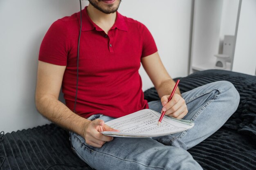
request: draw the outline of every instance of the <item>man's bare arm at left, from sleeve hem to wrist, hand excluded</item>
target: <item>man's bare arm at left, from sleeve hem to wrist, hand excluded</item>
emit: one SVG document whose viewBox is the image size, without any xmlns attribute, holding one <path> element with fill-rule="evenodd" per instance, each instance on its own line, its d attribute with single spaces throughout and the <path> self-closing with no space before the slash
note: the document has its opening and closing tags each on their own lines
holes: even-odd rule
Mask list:
<svg viewBox="0 0 256 170">
<path fill-rule="evenodd" d="M 73 113 L 58 100 L 66 66 L 39 61 L 36 85 L 36 108 L 54 123 L 83 136 L 90 121 Z"/>
</svg>

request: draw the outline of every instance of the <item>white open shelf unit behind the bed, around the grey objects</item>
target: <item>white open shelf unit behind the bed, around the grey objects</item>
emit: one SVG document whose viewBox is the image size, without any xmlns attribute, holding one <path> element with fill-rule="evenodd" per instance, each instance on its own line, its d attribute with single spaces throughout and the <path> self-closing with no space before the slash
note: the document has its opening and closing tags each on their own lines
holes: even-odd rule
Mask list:
<svg viewBox="0 0 256 170">
<path fill-rule="evenodd" d="M 226 68 L 220 68 L 215 66 L 214 55 L 224 52 L 220 47 L 223 46 L 225 35 L 234 35 L 236 40 L 242 0 L 194 2 L 189 74 L 209 69 L 232 71 L 233 56 L 231 63 L 226 63 Z"/>
</svg>

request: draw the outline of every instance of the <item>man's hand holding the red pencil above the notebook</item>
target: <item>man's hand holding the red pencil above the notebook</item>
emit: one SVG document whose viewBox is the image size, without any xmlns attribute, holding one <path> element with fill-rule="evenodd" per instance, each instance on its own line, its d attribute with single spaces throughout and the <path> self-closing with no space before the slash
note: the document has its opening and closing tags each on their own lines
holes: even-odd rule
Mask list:
<svg viewBox="0 0 256 170">
<path fill-rule="evenodd" d="M 163 106 L 161 113 L 165 111 L 164 115 L 182 119 L 188 113 L 185 100 L 180 95 L 174 94 L 170 102 L 168 102 L 169 96 L 165 95 L 161 98 Z"/>
</svg>

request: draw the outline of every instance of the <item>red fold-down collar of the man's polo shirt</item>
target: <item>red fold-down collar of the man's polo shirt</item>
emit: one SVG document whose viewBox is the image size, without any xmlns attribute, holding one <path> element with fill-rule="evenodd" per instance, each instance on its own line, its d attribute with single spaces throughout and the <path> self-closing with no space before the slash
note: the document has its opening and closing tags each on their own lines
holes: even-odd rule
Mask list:
<svg viewBox="0 0 256 170">
<path fill-rule="evenodd" d="M 76 13 L 76 16 L 78 18 L 79 25 L 81 25 L 80 12 Z M 117 12 L 117 18 L 116 18 L 115 24 L 112 26 L 111 29 L 115 29 L 115 28 L 122 31 L 128 31 L 125 17 L 118 12 Z M 82 10 L 82 31 L 91 31 L 94 29 L 96 29 L 97 31 L 102 31 L 102 29 L 99 26 L 97 26 L 94 22 L 92 22 L 91 18 L 87 13 L 87 7 L 85 7 Z"/>
</svg>

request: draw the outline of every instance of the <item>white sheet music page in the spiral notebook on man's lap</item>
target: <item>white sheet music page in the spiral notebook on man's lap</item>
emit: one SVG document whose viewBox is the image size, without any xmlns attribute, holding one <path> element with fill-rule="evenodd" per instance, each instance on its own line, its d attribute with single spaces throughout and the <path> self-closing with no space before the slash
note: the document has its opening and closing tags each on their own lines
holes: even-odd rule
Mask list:
<svg viewBox="0 0 256 170">
<path fill-rule="evenodd" d="M 130 115 L 106 122 L 106 124 L 111 128 L 120 130 L 121 134 L 134 134 L 144 136 L 155 136 L 166 133 L 171 134 L 172 132 L 180 132 L 189 128 L 189 125 L 181 124 L 165 117 L 162 119 L 161 124 L 158 126 L 157 122 L 159 117 L 159 113 L 150 109 L 144 109 Z M 112 132 L 111 134 L 117 134 L 117 132 Z"/>
</svg>

